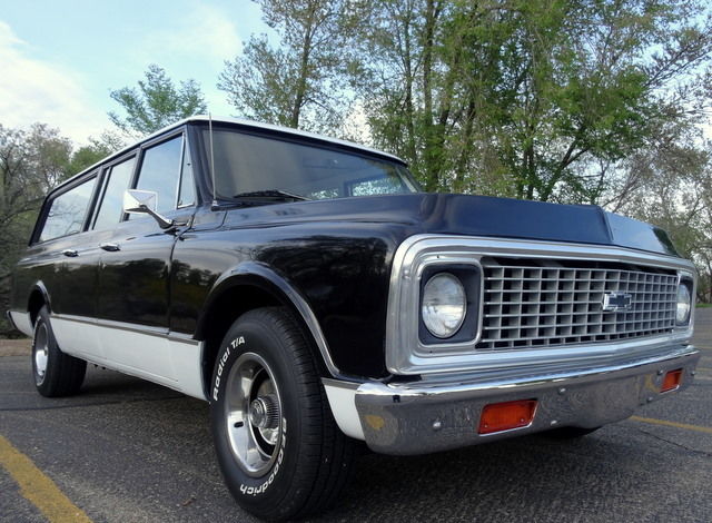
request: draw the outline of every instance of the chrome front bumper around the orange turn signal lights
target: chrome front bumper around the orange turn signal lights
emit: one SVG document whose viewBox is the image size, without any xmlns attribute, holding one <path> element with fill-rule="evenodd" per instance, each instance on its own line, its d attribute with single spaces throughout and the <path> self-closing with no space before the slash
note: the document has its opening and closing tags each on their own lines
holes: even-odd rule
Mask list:
<svg viewBox="0 0 712 523">
<path fill-rule="evenodd" d="M 646 403 L 688 387 L 700 353 L 691 345 L 664 354 L 577 372 L 530 373 L 516 378 L 463 375 L 409 383 L 365 383 L 355 394 L 368 446 L 385 454 L 424 454 L 576 426 L 593 428 L 631 416 Z M 682 369 L 675 391 L 661 393 L 664 375 Z M 482 409 L 493 403 L 536 399 L 526 427 L 478 434 Z"/>
</svg>

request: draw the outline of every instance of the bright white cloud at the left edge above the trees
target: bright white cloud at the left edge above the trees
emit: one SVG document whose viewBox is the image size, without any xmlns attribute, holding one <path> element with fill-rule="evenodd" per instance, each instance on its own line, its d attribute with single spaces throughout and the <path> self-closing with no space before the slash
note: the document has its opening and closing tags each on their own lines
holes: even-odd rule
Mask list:
<svg viewBox="0 0 712 523">
<path fill-rule="evenodd" d="M 81 77 L 31 58 L 29 50 L 0 20 L 0 124 L 27 128 L 44 122 L 76 142 L 101 134 L 108 124 L 106 115 L 88 105 Z"/>
</svg>

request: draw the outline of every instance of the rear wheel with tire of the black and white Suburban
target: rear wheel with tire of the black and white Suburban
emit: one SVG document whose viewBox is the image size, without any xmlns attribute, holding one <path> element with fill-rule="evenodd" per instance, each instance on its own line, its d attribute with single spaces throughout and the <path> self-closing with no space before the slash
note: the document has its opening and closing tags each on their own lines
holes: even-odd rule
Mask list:
<svg viewBox="0 0 712 523">
<path fill-rule="evenodd" d="M 47 397 L 76 394 L 85 381 L 87 362 L 61 352 L 43 306 L 37 315 L 32 336 L 32 374 L 37 391 Z"/>
</svg>

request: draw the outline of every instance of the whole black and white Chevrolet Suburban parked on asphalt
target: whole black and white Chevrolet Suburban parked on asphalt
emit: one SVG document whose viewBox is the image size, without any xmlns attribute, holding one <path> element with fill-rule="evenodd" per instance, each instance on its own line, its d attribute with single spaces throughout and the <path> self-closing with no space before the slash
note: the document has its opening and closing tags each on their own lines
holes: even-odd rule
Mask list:
<svg viewBox="0 0 712 523">
<path fill-rule="evenodd" d="M 89 362 L 207 399 L 230 492 L 285 520 L 355 440 L 578 436 L 686 387 L 695 279 L 595 206 L 424 194 L 385 152 L 195 117 L 47 196 L 10 317 L 44 396 Z"/>
</svg>

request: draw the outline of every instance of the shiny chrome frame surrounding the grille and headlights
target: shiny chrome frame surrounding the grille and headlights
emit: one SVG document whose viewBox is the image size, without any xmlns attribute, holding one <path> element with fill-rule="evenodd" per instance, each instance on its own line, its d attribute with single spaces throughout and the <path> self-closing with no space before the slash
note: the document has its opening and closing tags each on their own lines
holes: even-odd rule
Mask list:
<svg viewBox="0 0 712 523">
<path fill-rule="evenodd" d="M 523 364 L 572 364 L 582 358 L 612 359 L 621 353 L 650 353 L 662 345 L 684 343 L 692 336 L 693 318 L 688 328 L 666 336 L 637 338 L 633 342 L 595 343 L 557 348 L 517 348 L 496 354 L 475 353 L 475 344 L 425 346 L 417 333 L 419 318 L 419 278 L 423 266 L 433 263 L 479 260 L 483 256 L 524 256 L 527 258 L 607 260 L 647 265 L 683 272 L 693 276 L 691 262 L 624 247 L 565 244 L 541 240 L 500 239 L 444 235 L 415 235 L 407 238 L 394 256 L 386 319 L 386 367 L 393 374 L 424 374 L 491 369 Z"/>
</svg>

